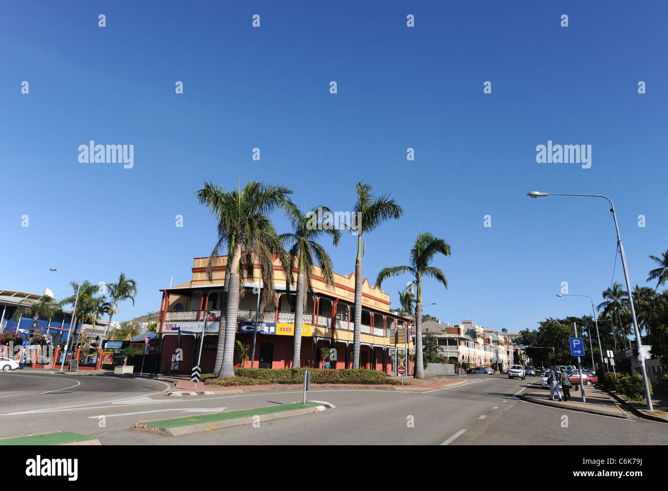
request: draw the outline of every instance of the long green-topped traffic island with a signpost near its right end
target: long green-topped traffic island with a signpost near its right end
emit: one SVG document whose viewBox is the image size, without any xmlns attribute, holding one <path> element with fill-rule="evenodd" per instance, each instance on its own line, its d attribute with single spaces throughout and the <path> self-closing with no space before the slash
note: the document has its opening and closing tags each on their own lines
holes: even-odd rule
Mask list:
<svg viewBox="0 0 668 491">
<path fill-rule="evenodd" d="M 189 416 L 185 418 L 139 422 L 132 426 L 132 429 L 165 436 L 190 435 L 221 430 L 222 428 L 230 428 L 232 426 L 259 424 L 265 421 L 302 416 L 303 414 L 314 414 L 335 409 L 335 407 L 335 405 L 323 401 L 307 401 L 306 404 L 295 402 L 268 407 L 256 407 L 250 410 L 200 414 L 196 418 Z"/>
</svg>

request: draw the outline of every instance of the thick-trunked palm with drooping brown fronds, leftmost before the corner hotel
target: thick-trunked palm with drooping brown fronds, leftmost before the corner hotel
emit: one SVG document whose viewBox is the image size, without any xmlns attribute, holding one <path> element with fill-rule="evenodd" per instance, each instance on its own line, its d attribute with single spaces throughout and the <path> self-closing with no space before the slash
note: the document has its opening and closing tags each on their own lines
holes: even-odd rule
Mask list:
<svg viewBox="0 0 668 491">
<path fill-rule="evenodd" d="M 216 258 L 221 250 L 228 251 L 224 345 L 220 353 L 222 343 L 219 342 L 216 353 L 216 368 L 220 367 L 218 374 L 220 377 L 234 377 L 234 337 L 240 278 L 252 279 L 255 271 L 254 263 L 259 262 L 264 283 L 261 300 L 264 305 L 275 300 L 273 255 L 279 257 L 286 275 L 290 276 L 287 253 L 267 214 L 277 208 L 287 209 L 290 203 L 287 195 L 291 193 L 292 191 L 285 186 L 256 181 L 248 182 L 243 189 L 239 186 L 232 192 L 225 192 L 220 186 L 204 182 L 204 188 L 196 193 L 200 204 L 209 208 L 218 220 L 218 242 L 210 258 Z M 229 277 L 227 277 L 228 271 Z M 212 261 L 209 261 L 207 276 L 211 281 Z"/>
</svg>

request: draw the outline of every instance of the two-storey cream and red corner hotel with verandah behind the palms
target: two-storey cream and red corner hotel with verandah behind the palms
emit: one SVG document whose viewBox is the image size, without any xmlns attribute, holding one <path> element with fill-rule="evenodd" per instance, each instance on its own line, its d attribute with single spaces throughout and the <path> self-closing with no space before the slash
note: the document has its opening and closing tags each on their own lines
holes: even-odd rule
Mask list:
<svg viewBox="0 0 668 491">
<path fill-rule="evenodd" d="M 202 373 L 213 371 L 218 343 L 224 342 L 224 287 L 227 257 L 216 259 L 212 281 L 206 275 L 208 257 L 196 257 L 192 267 L 192 279 L 182 285 L 162 290 L 160 307 L 160 366 L 161 373 L 189 374 L 197 364 L 200 339 L 204 330 L 204 315 L 208 311 L 206 332 L 202 345 Z M 297 272 L 293 273 L 293 285 L 297 283 Z M 289 368 L 293 359 L 293 335 L 295 323 L 295 290 L 285 289 L 285 275 L 277 258 L 274 259 L 275 300 L 265 305 L 259 313 L 259 330 L 256 336 L 255 362 L 260 368 Z M 313 274 L 313 290 L 307 293 L 301 326 L 301 366 L 321 367 L 320 347 L 335 349 L 332 368 L 353 366 L 353 319 L 355 315 L 355 274 L 334 275 L 335 286 L 328 288 L 319 267 Z M 259 265 L 255 265 L 253 279 L 242 281 L 236 323 L 236 337 L 248 345 L 251 357 L 253 331 L 255 329 L 257 293 L 253 288 L 260 284 Z M 362 283 L 362 325 L 359 366 L 391 373 L 394 357 L 394 329 L 407 329 L 407 339 L 413 333 L 413 320 L 390 313 L 389 295 Z M 221 311 L 222 310 L 222 311 Z M 405 348 L 399 345 L 399 353 Z M 407 346 L 409 355 L 413 344 Z M 401 362 L 400 362 L 401 363 Z M 234 366 L 240 360 L 234 355 Z M 244 367 L 251 367 L 249 359 Z M 411 365 L 409 364 L 409 372 Z"/>
</svg>

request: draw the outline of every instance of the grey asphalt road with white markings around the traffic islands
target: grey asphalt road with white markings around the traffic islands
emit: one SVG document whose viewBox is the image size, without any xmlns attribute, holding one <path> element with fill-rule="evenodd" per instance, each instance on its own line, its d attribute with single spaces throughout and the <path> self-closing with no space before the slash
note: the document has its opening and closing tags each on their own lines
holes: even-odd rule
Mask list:
<svg viewBox="0 0 668 491">
<path fill-rule="evenodd" d="M 174 444 L 668 444 L 668 426 L 556 409 L 514 398 L 540 378 L 474 375 L 426 393 L 331 388 L 307 399 L 337 409 L 203 434 L 168 437 L 130 430 L 164 418 L 301 401 L 301 390 L 164 397 L 168 384 L 108 376 L 0 374 L 0 438 L 67 430 L 106 445 Z"/>
</svg>

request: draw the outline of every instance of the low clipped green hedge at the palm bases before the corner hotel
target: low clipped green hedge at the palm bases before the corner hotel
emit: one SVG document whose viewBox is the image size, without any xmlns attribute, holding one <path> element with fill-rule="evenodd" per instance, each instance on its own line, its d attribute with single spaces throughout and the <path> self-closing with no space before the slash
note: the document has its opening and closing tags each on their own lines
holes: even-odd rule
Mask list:
<svg viewBox="0 0 668 491">
<path fill-rule="evenodd" d="M 311 371 L 311 383 L 361 383 L 365 385 L 399 384 L 382 371 L 354 369 L 323 369 L 323 368 L 235 368 L 234 377 L 218 378 L 214 374 L 206 374 L 202 381 L 207 385 L 270 385 L 304 383 L 304 372 Z M 208 376 L 211 375 L 211 376 Z M 404 382 L 404 384 L 407 384 Z"/>
</svg>

